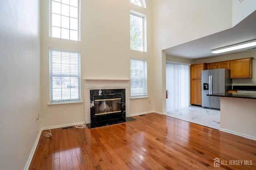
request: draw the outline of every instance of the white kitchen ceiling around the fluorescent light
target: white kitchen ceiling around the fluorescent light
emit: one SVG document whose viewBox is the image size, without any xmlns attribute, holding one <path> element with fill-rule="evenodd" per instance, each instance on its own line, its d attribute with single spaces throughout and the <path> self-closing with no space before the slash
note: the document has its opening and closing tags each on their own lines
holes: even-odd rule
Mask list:
<svg viewBox="0 0 256 170">
<path fill-rule="evenodd" d="M 256 50 L 256 46 L 220 54 L 213 54 L 211 50 L 254 39 L 256 39 L 256 11 L 230 29 L 170 47 L 166 49 L 166 55 L 187 59 L 202 59 L 240 53 L 248 50 Z"/>
</svg>

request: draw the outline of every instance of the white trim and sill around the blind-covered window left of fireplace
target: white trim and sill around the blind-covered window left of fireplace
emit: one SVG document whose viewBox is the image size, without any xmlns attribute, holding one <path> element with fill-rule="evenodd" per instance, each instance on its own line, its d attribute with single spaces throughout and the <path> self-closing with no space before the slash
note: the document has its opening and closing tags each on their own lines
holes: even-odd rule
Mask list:
<svg viewBox="0 0 256 170">
<path fill-rule="evenodd" d="M 72 50 L 65 50 L 65 49 L 58 49 L 49 47 L 49 80 L 50 80 L 50 103 L 48 105 L 74 105 L 74 104 L 81 104 L 83 103 L 81 100 L 81 54 L 80 54 L 80 68 L 79 68 L 79 88 L 78 89 L 78 96 L 77 100 L 60 100 L 60 101 L 52 101 L 52 85 L 51 85 L 51 74 L 50 74 L 50 51 L 61 51 L 67 53 L 79 53 L 80 51 L 72 51 Z"/>
</svg>

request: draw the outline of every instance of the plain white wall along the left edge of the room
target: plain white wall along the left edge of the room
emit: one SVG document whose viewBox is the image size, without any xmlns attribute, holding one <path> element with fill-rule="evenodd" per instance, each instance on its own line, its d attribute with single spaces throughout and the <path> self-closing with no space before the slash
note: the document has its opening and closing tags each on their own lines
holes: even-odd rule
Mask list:
<svg viewBox="0 0 256 170">
<path fill-rule="evenodd" d="M 0 1 L 0 169 L 25 167 L 40 111 L 39 0 Z"/>
</svg>

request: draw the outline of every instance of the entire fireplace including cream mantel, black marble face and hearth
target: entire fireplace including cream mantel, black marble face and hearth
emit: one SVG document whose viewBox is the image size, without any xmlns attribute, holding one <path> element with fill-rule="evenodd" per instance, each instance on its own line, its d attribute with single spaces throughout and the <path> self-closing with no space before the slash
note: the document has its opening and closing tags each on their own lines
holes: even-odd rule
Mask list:
<svg viewBox="0 0 256 170">
<path fill-rule="evenodd" d="M 84 80 L 87 127 L 135 120 L 130 117 L 130 80 Z"/>
</svg>

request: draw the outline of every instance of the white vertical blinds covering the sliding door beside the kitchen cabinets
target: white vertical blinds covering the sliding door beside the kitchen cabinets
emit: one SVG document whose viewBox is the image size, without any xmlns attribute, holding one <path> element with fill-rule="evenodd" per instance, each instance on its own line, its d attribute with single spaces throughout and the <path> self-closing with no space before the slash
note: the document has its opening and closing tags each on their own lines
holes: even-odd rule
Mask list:
<svg viewBox="0 0 256 170">
<path fill-rule="evenodd" d="M 166 63 L 166 110 L 189 106 L 190 96 L 189 66 Z"/>
</svg>

